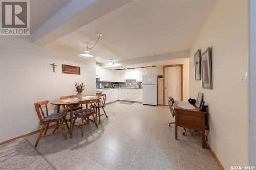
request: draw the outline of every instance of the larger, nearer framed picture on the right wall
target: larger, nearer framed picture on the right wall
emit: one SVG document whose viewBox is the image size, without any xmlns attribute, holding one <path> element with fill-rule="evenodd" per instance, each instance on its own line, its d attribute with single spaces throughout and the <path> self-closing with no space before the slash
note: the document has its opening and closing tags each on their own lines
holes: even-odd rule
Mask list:
<svg viewBox="0 0 256 170">
<path fill-rule="evenodd" d="M 202 87 L 212 89 L 212 70 L 211 70 L 211 54 L 208 47 L 201 55 L 202 65 Z"/>
</svg>

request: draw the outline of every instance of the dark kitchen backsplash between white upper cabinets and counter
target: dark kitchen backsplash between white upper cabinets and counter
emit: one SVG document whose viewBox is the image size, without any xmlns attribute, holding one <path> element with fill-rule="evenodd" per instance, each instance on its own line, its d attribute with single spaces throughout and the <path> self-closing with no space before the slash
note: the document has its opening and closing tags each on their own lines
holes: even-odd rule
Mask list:
<svg viewBox="0 0 256 170">
<path fill-rule="evenodd" d="M 99 88 L 99 84 L 102 84 L 102 88 L 106 88 L 105 85 L 108 85 L 108 88 L 112 88 L 113 84 L 120 84 L 121 87 L 141 87 L 142 82 L 136 82 L 136 80 L 126 80 L 126 82 L 101 82 L 97 81 L 96 86 Z"/>
</svg>

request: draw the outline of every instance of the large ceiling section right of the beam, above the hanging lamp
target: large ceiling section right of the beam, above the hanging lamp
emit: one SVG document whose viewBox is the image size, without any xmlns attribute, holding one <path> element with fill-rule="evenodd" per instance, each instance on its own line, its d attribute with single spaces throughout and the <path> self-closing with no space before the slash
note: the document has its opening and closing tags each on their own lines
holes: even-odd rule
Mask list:
<svg viewBox="0 0 256 170">
<path fill-rule="evenodd" d="M 132 1 L 55 41 L 90 52 L 96 62 L 123 61 L 189 50 L 216 1 Z"/>
</svg>

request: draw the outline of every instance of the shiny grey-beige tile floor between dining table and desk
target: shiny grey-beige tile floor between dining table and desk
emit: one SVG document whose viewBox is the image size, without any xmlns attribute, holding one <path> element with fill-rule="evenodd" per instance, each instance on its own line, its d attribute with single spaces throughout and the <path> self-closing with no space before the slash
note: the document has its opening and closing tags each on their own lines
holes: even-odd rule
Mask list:
<svg viewBox="0 0 256 170">
<path fill-rule="evenodd" d="M 175 140 L 167 106 L 115 102 L 105 110 L 98 129 L 89 123 L 83 137 L 74 128 L 72 139 L 43 138 L 36 150 L 56 169 L 219 169 L 198 132 L 179 128 Z M 26 139 L 34 145 L 37 135 Z"/>
</svg>

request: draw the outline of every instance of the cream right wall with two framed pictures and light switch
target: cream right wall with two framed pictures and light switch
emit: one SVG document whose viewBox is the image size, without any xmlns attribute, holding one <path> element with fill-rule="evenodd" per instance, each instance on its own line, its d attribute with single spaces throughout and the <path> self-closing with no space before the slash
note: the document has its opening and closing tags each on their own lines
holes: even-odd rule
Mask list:
<svg viewBox="0 0 256 170">
<path fill-rule="evenodd" d="M 209 144 L 225 169 L 248 165 L 248 1 L 218 1 L 190 51 L 190 96 L 199 91 L 209 106 Z M 194 53 L 212 47 L 213 90 L 195 81 Z"/>
</svg>

